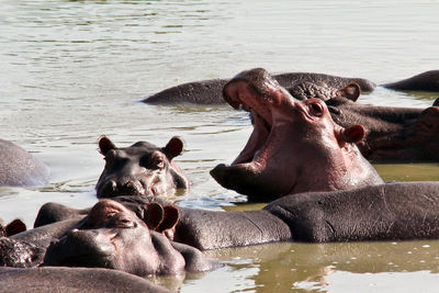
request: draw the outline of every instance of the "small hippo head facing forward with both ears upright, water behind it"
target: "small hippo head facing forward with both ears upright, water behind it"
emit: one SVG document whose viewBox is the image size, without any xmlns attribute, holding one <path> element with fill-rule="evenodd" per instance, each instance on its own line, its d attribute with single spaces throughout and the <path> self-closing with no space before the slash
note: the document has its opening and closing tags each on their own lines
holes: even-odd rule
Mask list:
<svg viewBox="0 0 439 293">
<path fill-rule="evenodd" d="M 154 196 L 189 188 L 189 180 L 172 161 L 183 150 L 178 137 L 162 148 L 146 142 L 117 148 L 106 136 L 100 137 L 98 145 L 105 159 L 95 187 L 98 198 Z"/>
</svg>

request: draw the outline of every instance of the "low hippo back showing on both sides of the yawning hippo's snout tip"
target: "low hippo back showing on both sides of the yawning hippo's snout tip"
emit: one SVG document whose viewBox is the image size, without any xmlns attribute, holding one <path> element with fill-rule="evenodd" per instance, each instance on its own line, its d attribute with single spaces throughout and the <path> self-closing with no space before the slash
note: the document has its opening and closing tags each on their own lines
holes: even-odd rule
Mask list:
<svg viewBox="0 0 439 293">
<path fill-rule="evenodd" d="M 304 90 L 328 94 L 328 89 L 339 89 L 349 82 L 357 82 L 362 91 L 372 91 L 375 84 L 362 78 L 345 78 L 324 74 L 291 72 L 274 75 L 273 78 L 288 90 L 302 93 Z M 143 102 L 148 104 L 224 104 L 222 92 L 227 79 L 211 79 L 179 84 L 153 95 Z M 296 97 L 299 99 L 299 97 Z"/>
</svg>

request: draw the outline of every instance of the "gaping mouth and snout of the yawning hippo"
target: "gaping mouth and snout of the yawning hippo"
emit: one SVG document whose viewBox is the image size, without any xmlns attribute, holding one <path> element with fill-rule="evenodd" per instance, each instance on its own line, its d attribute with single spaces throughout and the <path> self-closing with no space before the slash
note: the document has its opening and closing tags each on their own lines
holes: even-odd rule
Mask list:
<svg viewBox="0 0 439 293">
<path fill-rule="evenodd" d="M 309 111 L 323 111 L 320 104 L 299 104 L 285 89 L 261 68 L 244 71 L 232 79 L 223 90 L 224 99 L 235 109 L 251 113 L 254 132 L 245 148 L 230 166 L 216 166 L 212 177 L 224 188 L 251 195 L 282 196 L 294 189 L 290 166 L 291 154 L 282 145 L 291 137 L 294 110 L 302 116 Z M 305 102 L 306 103 L 306 102 Z M 308 117 L 313 119 L 313 117 Z"/>
</svg>

